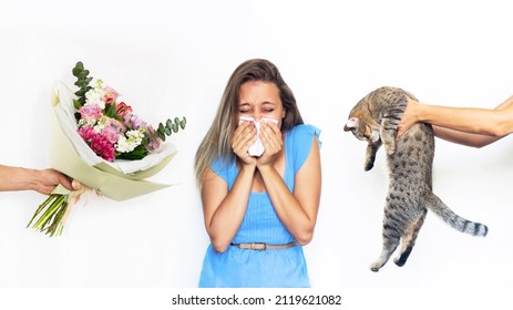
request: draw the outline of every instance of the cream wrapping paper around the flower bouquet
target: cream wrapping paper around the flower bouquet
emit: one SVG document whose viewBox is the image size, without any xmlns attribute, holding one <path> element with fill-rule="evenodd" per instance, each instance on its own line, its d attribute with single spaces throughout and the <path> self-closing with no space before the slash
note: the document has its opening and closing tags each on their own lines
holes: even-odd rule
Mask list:
<svg viewBox="0 0 513 310">
<path fill-rule="evenodd" d="M 109 163 L 96 156 L 76 132 L 73 107 L 74 94 L 62 82 L 52 92 L 52 138 L 50 166 L 83 185 L 114 200 L 125 200 L 171 185 L 146 180 L 162 170 L 177 151 L 170 142 L 160 152 L 142 161 L 114 161 Z M 59 186 L 54 194 L 69 194 Z"/>
</svg>

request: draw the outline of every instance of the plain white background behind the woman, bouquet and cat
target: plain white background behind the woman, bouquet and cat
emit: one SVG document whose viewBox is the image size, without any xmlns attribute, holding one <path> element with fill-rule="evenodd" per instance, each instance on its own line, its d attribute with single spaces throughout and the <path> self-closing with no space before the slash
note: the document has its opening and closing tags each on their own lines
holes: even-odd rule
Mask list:
<svg viewBox="0 0 513 310">
<path fill-rule="evenodd" d="M 93 197 L 59 238 L 24 228 L 43 195 L 2 193 L 0 287 L 196 287 L 208 238 L 194 155 L 230 73 L 252 58 L 280 69 L 306 123 L 322 131 L 321 205 L 305 247 L 312 287 L 511 286 L 511 137 L 481 149 L 437 141 L 435 194 L 486 224 L 488 237 L 430 214 L 407 265 L 373 273 L 384 156 L 365 173 L 366 144 L 342 130 L 382 85 L 425 103 L 499 105 L 512 94 L 510 12 L 507 1 L 0 0 L 0 163 L 49 166 L 51 86 L 72 86 L 79 60 L 148 122 L 188 120 L 172 137 L 178 155 L 152 178 L 174 186 L 123 203 Z"/>
</svg>

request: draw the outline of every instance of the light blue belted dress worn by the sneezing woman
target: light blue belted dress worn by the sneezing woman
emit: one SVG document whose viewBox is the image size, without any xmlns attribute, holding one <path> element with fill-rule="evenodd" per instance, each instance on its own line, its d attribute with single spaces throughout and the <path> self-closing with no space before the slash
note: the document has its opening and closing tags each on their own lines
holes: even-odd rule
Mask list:
<svg viewBox="0 0 513 310">
<path fill-rule="evenodd" d="M 294 178 L 310 154 L 314 136 L 320 131 L 311 125 L 297 125 L 285 134 L 285 184 L 294 193 Z M 320 142 L 319 142 L 320 145 Z M 232 189 L 238 168 L 235 161 L 227 166 L 216 161 L 211 168 Z M 265 242 L 285 245 L 295 241 L 279 220 L 267 193 L 252 193 L 244 220 L 233 244 Z M 309 287 L 302 247 L 252 250 L 229 246 L 218 252 L 208 246 L 203 261 L 199 287 L 271 288 Z"/>
</svg>

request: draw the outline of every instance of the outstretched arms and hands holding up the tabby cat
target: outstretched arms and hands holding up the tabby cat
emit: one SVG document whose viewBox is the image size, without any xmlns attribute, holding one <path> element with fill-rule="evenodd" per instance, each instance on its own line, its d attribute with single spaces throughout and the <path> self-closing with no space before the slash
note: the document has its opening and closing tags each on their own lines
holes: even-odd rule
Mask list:
<svg viewBox="0 0 513 310">
<path fill-rule="evenodd" d="M 494 110 L 428 105 L 408 97 L 398 138 L 418 122 L 432 124 L 443 140 L 483 147 L 513 132 L 513 96 Z"/>
</svg>

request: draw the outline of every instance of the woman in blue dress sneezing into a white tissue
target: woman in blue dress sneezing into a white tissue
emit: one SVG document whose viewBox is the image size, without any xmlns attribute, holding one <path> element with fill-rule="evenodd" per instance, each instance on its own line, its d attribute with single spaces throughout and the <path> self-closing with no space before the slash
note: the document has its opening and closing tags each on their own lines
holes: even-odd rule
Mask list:
<svg viewBox="0 0 513 310">
<path fill-rule="evenodd" d="M 235 70 L 195 158 L 211 238 L 199 287 L 309 287 L 301 246 L 319 208 L 319 133 L 273 63 Z M 258 138 L 265 152 L 250 156 Z"/>
</svg>

